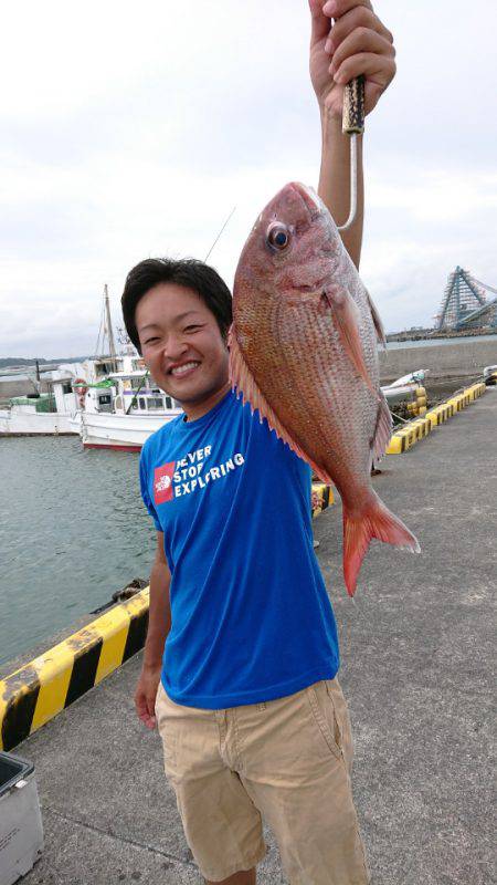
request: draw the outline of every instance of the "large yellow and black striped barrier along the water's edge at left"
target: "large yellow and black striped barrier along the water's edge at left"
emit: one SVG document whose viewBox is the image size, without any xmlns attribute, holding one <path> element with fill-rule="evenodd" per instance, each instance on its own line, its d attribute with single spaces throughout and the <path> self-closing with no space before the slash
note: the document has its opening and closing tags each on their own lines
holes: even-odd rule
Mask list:
<svg viewBox="0 0 497 885">
<path fill-rule="evenodd" d="M 10 750 L 144 647 L 149 589 L 0 680 L 0 750 Z"/>
</svg>

